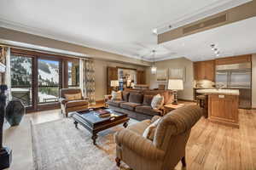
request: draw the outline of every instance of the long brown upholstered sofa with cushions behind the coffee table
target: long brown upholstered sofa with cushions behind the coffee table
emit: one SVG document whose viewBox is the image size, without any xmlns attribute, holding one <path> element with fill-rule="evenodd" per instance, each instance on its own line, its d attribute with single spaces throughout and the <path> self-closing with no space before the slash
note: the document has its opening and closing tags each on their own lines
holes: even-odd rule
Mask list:
<svg viewBox="0 0 256 170">
<path fill-rule="evenodd" d="M 170 90 L 126 89 L 122 92 L 122 99 L 113 100 L 111 99 L 111 95 L 108 95 L 108 101 L 106 103 L 113 111 L 126 113 L 129 117 L 142 121 L 164 114 L 164 107 L 158 110 L 154 110 L 151 107 L 151 101 L 156 94 L 164 97 L 164 105 L 171 104 L 173 101 L 172 91 Z"/>
</svg>

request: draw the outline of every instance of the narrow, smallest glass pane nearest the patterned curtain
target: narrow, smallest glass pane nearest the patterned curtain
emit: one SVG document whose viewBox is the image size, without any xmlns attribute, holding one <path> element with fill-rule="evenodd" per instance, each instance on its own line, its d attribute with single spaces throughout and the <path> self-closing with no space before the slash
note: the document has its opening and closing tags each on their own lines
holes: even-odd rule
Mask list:
<svg viewBox="0 0 256 170">
<path fill-rule="evenodd" d="M 79 61 L 67 62 L 68 68 L 68 88 L 79 88 Z"/>
</svg>

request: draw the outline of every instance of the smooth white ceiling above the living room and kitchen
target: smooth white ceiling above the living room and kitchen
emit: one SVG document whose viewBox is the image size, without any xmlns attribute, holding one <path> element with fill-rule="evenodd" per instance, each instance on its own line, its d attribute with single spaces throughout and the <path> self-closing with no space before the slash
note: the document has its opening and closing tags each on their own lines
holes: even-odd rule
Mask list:
<svg viewBox="0 0 256 170">
<path fill-rule="evenodd" d="M 256 20 L 160 45 L 152 30 L 183 26 L 249 1 L 1 0 L 0 26 L 139 59 L 152 60 L 150 52 L 155 49 L 156 60 L 181 56 L 201 60 L 213 57 L 209 51 L 212 42 L 217 43 L 221 55 L 256 52 L 252 47 L 256 44 L 252 43 Z"/>
</svg>

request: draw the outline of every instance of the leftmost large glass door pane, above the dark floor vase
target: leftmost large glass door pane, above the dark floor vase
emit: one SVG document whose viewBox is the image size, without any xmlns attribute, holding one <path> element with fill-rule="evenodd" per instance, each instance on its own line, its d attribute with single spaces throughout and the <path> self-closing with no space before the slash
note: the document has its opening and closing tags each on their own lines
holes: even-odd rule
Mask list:
<svg viewBox="0 0 256 170">
<path fill-rule="evenodd" d="M 10 67 L 13 99 L 32 105 L 32 58 L 11 54 Z"/>
</svg>

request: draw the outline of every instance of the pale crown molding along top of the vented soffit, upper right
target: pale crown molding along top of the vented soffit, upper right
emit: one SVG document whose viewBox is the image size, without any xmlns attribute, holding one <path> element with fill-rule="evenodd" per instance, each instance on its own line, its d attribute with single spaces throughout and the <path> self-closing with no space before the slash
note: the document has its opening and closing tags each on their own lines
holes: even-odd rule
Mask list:
<svg viewBox="0 0 256 170">
<path fill-rule="evenodd" d="M 204 8 L 200 8 L 193 14 L 184 14 L 183 17 L 177 18 L 175 20 L 169 20 L 168 22 L 156 27 L 157 34 L 165 33 L 166 31 L 172 31 L 180 26 L 188 25 L 189 23 L 195 22 L 197 20 L 202 20 L 211 16 L 212 14 L 218 14 L 230 8 L 237 7 L 244 3 L 252 2 L 253 0 L 218 0 L 218 2 L 211 3 Z M 172 28 L 169 28 L 172 26 Z"/>
</svg>

